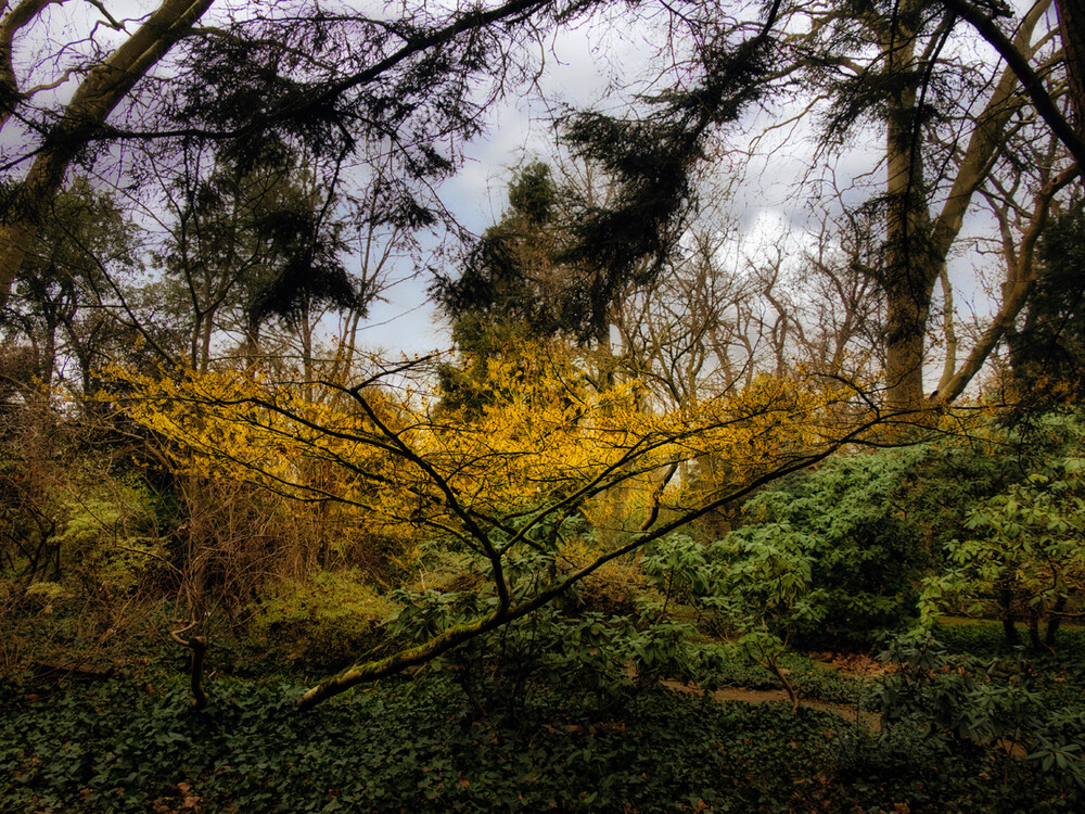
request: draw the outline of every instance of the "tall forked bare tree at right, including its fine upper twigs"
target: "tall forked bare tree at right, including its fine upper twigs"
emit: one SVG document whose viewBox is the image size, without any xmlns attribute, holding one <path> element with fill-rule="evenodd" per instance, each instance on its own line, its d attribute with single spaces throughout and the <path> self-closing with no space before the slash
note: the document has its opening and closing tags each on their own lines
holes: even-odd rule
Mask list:
<svg viewBox="0 0 1085 814">
<path fill-rule="evenodd" d="M 1039 78 L 1057 76 L 1058 38 L 1045 27 L 1050 0 L 1034 3 L 1001 35 L 1017 56 L 1001 68 L 966 55 L 961 4 L 901 0 L 870 4 L 858 14 L 831 3 L 796 5 L 793 13 L 806 25 L 787 42 L 794 59 L 810 66 L 806 76 L 814 87 L 825 92 L 826 103 L 806 103 L 807 111 L 824 115 L 822 156 L 855 132 L 869 131 L 863 128 L 876 127 L 884 138 L 884 181 L 870 202 L 880 213 L 871 224 L 882 251 L 871 271 L 885 309 L 886 399 L 901 411 L 927 404 L 923 373 L 935 288 L 941 282 L 943 298 L 952 298 L 946 265 L 976 192 L 1010 151 L 1010 136 L 1037 94 L 1050 102 L 1050 93 L 1059 92 L 1054 86 L 1045 90 L 1046 79 Z M 1021 78 L 1018 63 L 1031 66 L 1038 90 Z M 1023 205 L 1036 212 L 1049 200 L 1039 189 L 1022 186 L 1018 192 L 1031 196 Z M 984 347 L 943 376 L 945 387 L 953 385 L 940 387 L 940 398 L 960 393 L 982 364 Z"/>
</svg>

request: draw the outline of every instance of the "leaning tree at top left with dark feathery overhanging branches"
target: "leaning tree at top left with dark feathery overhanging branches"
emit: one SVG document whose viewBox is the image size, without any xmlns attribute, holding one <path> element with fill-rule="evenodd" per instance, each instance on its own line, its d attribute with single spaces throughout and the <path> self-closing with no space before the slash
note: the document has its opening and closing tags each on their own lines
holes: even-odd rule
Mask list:
<svg viewBox="0 0 1085 814">
<path fill-rule="evenodd" d="M 128 21 L 87 3 L 88 38 L 65 43 L 58 35 L 54 59 L 33 63 L 27 30 L 51 22 L 49 5 L 25 0 L 0 25 L 7 99 L 0 126 L 18 136 L 8 140 L 5 166 L 29 164 L 4 201 L 3 298 L 72 162 L 90 164 L 101 157 L 94 150 L 110 143 L 131 148 L 112 167 L 126 186 L 168 170 L 186 144 L 242 163 L 266 155 L 271 142 L 306 144 L 340 169 L 380 153 L 390 171 L 380 179 L 371 221 L 410 229 L 450 224 L 432 183 L 456 167 L 459 142 L 482 130 L 487 106 L 519 77 L 527 60 L 520 47 L 596 3 L 408 4 L 376 15 L 302 3 L 259 14 L 224 9 L 204 29 L 196 23 L 210 0 L 176 0 L 131 35 Z M 117 36 L 106 39 L 120 41 L 115 48 L 99 42 L 110 29 Z M 181 40 L 170 69 L 153 75 Z M 17 77 L 46 66 L 54 74 L 35 87 L 18 85 Z M 84 77 L 77 92 L 56 103 L 51 91 L 73 76 Z M 335 185 L 346 175 L 336 173 Z"/>
</svg>

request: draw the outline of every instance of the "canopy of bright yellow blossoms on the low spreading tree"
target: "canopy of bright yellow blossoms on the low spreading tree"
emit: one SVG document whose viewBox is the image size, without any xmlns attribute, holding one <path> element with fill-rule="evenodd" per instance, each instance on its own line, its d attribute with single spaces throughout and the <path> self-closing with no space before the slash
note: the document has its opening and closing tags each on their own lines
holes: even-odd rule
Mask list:
<svg viewBox="0 0 1085 814">
<path fill-rule="evenodd" d="M 839 446 L 869 418 L 837 382 L 765 378 L 662 412 L 643 407 L 637 382 L 589 386 L 569 358 L 509 359 L 489 370 L 506 397 L 470 418 L 390 377 L 353 389 L 252 369 L 114 377 L 124 410 L 179 472 L 339 501 L 383 533 L 430 529 L 469 543 L 511 517 L 579 511 L 620 488 L 642 509 L 673 467 L 711 462 L 717 491 L 748 483 Z M 681 478 L 667 495 L 693 499 Z"/>
</svg>

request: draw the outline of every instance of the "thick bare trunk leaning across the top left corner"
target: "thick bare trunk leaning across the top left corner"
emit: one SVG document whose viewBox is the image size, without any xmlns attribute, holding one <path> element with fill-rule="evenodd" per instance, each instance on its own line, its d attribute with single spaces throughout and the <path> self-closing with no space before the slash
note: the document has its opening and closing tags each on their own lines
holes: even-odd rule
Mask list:
<svg viewBox="0 0 1085 814">
<path fill-rule="evenodd" d="M 29 171 L 7 201 L 0 222 L 0 306 L 8 302 L 11 284 L 29 251 L 46 207 L 61 190 L 72 160 L 100 132 L 105 119 L 167 51 L 187 34 L 213 0 L 163 0 L 140 26 L 104 62 L 91 68 L 79 84 L 56 124 L 44 138 Z M 0 21 L 0 34 L 11 27 L 9 15 L 37 4 L 22 3 Z M 35 12 L 40 7 L 35 9 Z M 0 40 L 10 54 L 11 41 Z M 10 59 L 10 56 L 9 56 Z M 0 80 L 3 79 L 0 68 Z"/>
</svg>

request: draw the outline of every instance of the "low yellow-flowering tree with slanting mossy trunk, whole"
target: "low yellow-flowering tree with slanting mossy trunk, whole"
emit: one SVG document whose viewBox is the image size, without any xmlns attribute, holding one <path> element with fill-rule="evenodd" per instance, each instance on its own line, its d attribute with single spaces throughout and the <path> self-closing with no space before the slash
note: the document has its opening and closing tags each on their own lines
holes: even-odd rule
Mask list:
<svg viewBox="0 0 1085 814">
<path fill-rule="evenodd" d="M 837 380 L 766 378 L 741 395 L 650 412 L 637 383 L 582 386 L 574 360 L 552 348 L 508 358 L 492 363 L 508 369 L 490 371 L 509 385 L 506 397 L 470 421 L 435 407 L 433 359 L 372 360 L 354 384 L 282 381 L 253 369 L 118 371 L 128 416 L 167 442 L 179 472 L 340 504 L 386 535 L 451 537 L 485 561 L 495 596 L 485 612 L 343 671 L 309 689 L 303 708 L 523 618 L 604 563 L 863 440 L 879 421 L 856 387 Z M 710 456 L 727 462 L 729 485 L 691 501 L 669 482 L 681 463 Z M 636 527 L 610 535 L 541 587 L 518 590 L 511 559 L 559 549 L 569 542 L 563 520 L 631 483 L 644 503 Z"/>
</svg>

